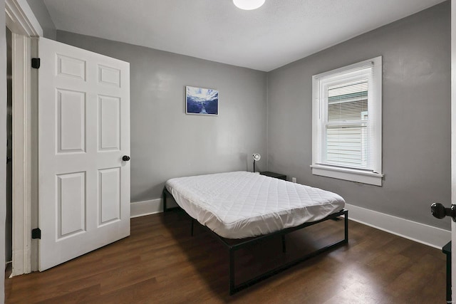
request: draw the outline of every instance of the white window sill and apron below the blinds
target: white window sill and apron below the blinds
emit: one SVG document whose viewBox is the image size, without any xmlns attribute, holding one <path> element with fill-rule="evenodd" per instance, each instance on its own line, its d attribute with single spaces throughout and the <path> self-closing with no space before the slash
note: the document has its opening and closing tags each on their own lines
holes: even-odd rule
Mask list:
<svg viewBox="0 0 456 304">
<path fill-rule="evenodd" d="M 321 164 L 311 165 L 312 174 L 321 177 L 332 177 L 334 179 L 345 179 L 351 182 L 360 182 L 363 184 L 373 184 L 375 186 L 382 186 L 383 174 L 365 172 L 356 169 L 338 168 L 323 166 Z"/>
</svg>

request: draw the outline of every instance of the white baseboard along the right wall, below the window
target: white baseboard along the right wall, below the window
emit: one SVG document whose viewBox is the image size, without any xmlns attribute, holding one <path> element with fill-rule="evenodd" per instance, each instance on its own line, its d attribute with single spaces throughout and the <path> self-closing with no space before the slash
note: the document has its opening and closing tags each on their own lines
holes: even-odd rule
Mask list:
<svg viewBox="0 0 456 304">
<path fill-rule="evenodd" d="M 348 219 L 352 221 L 357 221 L 427 246 L 442 249 L 446 243 L 451 241 L 451 231 L 449 230 L 420 224 L 408 219 L 401 219 L 397 216 L 383 214 L 351 204 L 346 204 L 345 208 L 348 210 Z"/>
</svg>

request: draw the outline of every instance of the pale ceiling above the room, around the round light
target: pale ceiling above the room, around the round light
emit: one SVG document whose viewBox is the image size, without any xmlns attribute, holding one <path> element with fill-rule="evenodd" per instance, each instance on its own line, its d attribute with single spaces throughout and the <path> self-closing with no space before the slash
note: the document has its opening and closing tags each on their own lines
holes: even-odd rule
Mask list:
<svg viewBox="0 0 456 304">
<path fill-rule="evenodd" d="M 274 70 L 443 0 L 44 0 L 58 30 Z"/>
</svg>

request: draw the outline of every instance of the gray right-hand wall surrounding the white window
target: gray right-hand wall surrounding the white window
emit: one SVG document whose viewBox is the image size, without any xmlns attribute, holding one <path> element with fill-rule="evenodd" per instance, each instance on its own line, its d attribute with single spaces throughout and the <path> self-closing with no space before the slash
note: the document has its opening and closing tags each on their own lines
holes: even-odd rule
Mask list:
<svg viewBox="0 0 456 304">
<path fill-rule="evenodd" d="M 311 174 L 312 75 L 383 56 L 383 187 Z M 268 73 L 269 170 L 348 204 L 450 229 L 450 1 Z"/>
</svg>

